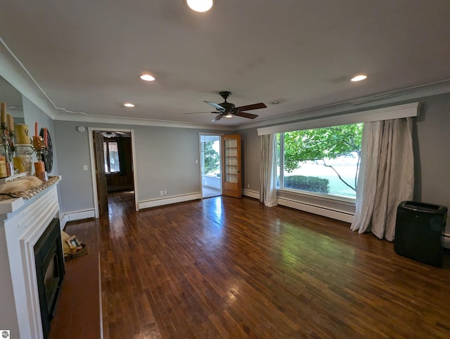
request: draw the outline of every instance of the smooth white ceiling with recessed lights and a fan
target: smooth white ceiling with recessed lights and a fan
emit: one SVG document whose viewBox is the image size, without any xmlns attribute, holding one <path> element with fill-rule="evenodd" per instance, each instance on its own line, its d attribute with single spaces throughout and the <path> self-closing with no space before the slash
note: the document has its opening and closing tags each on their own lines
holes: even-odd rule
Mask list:
<svg viewBox="0 0 450 339">
<path fill-rule="evenodd" d="M 0 37 L 74 115 L 203 124 L 226 90 L 257 121 L 450 79 L 449 0 L 1 0 Z"/>
</svg>

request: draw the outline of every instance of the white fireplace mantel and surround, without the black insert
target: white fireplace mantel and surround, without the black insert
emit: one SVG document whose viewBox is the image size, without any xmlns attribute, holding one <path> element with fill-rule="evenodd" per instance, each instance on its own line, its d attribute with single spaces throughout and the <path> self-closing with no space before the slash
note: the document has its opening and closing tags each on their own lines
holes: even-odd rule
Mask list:
<svg viewBox="0 0 450 339">
<path fill-rule="evenodd" d="M 56 186 L 0 201 L 0 330 L 11 338 L 43 338 L 34 244 L 59 217 Z"/>
</svg>

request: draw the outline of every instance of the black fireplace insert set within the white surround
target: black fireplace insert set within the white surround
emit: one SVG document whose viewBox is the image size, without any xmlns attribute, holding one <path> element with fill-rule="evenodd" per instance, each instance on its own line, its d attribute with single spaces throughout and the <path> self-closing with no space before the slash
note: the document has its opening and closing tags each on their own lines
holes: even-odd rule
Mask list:
<svg viewBox="0 0 450 339">
<path fill-rule="evenodd" d="M 65 274 L 59 219 L 54 218 L 34 245 L 39 309 L 44 338 L 49 335 L 50 321 Z"/>
</svg>

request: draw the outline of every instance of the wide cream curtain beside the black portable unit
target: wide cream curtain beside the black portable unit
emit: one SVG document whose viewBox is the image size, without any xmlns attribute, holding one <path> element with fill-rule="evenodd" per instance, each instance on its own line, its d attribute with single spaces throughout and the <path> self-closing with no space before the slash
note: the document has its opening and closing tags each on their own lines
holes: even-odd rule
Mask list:
<svg viewBox="0 0 450 339">
<path fill-rule="evenodd" d="M 350 228 L 393 241 L 397 206 L 414 191 L 413 118 L 366 122 Z"/>
</svg>

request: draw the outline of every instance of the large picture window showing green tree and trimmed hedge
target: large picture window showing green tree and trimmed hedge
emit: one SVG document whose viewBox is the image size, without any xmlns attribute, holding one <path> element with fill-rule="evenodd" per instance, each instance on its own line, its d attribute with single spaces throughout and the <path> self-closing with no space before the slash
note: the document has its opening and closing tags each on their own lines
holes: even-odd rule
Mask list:
<svg viewBox="0 0 450 339">
<path fill-rule="evenodd" d="M 285 132 L 278 136 L 278 187 L 356 197 L 363 124 Z"/>
</svg>

